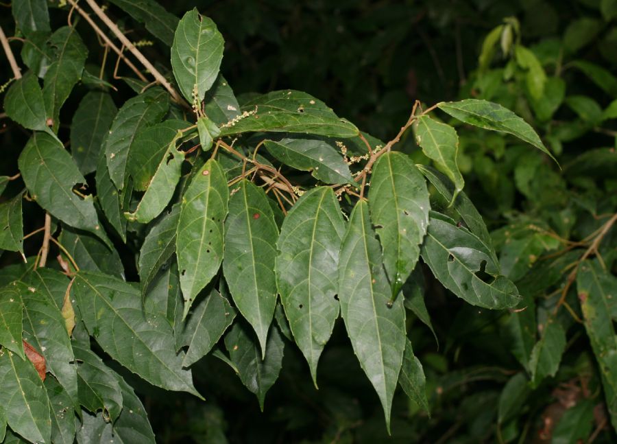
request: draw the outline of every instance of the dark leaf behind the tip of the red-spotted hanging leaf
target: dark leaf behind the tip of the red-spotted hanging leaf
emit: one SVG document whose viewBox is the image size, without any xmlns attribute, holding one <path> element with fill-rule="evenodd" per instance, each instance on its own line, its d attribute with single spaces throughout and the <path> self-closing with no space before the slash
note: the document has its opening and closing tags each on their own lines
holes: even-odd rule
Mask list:
<svg viewBox="0 0 617 444">
<path fill-rule="evenodd" d="M 265 350 L 263 357 L 252 331 L 241 323 L 235 323 L 225 335 L 225 348 L 233 364 L 232 368 L 240 377 L 242 384 L 257 396 L 259 407 L 263 412 L 265 395 L 278 379 L 282 367 L 285 342 L 278 329 L 276 327 L 270 329 L 267 345 L 261 347 L 261 350 Z"/>
</svg>

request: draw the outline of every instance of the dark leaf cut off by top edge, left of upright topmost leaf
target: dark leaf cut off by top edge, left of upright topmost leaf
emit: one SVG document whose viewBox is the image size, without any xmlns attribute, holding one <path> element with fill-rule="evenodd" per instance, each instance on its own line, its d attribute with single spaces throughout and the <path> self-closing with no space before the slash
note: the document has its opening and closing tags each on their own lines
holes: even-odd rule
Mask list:
<svg viewBox="0 0 617 444">
<path fill-rule="evenodd" d="M 154 0 L 110 0 L 111 3 L 127 12 L 136 21 L 144 23 L 146 30 L 162 43 L 171 46 L 173 32 L 178 26 L 178 17 L 167 12 Z"/>
</svg>

